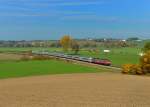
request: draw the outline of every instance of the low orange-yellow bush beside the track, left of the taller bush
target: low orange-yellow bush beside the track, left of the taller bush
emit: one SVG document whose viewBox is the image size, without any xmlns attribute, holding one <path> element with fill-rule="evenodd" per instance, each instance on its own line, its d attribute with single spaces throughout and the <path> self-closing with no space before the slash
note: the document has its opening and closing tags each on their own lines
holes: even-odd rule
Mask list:
<svg viewBox="0 0 150 107">
<path fill-rule="evenodd" d="M 138 75 L 144 74 L 141 65 L 126 64 L 126 65 L 123 65 L 122 68 L 123 68 L 122 73 L 124 73 L 124 74 L 134 74 L 134 75 L 135 74 L 138 74 Z"/>
</svg>

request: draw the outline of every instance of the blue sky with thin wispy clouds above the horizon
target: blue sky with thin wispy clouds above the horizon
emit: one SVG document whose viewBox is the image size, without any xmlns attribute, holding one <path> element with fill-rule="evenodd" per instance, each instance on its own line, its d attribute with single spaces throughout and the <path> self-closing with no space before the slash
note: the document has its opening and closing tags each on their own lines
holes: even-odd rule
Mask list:
<svg viewBox="0 0 150 107">
<path fill-rule="evenodd" d="M 0 40 L 150 38 L 150 0 L 0 0 Z"/>
</svg>

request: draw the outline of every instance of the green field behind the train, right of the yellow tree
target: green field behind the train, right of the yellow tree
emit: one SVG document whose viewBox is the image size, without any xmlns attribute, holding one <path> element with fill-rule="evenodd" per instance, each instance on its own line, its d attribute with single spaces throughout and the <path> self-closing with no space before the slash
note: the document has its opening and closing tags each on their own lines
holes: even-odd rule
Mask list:
<svg viewBox="0 0 150 107">
<path fill-rule="evenodd" d="M 102 52 L 103 49 L 100 49 L 100 53 L 90 53 L 88 51 L 81 51 L 79 54 L 81 56 L 90 56 L 90 57 L 98 57 L 104 59 L 110 59 L 112 61 L 113 66 L 122 66 L 123 64 L 139 63 L 140 56 L 138 55 L 141 52 L 139 48 L 112 48 L 111 52 L 105 54 Z"/>
</svg>

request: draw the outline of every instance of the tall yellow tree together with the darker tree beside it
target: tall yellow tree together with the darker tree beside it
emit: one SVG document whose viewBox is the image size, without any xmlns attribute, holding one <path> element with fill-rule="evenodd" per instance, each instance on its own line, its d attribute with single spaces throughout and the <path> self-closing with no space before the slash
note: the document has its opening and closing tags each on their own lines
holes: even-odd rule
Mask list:
<svg viewBox="0 0 150 107">
<path fill-rule="evenodd" d="M 63 36 L 60 39 L 60 44 L 65 52 L 68 52 L 69 49 L 72 49 L 72 51 L 74 51 L 75 54 L 78 54 L 80 50 L 78 42 L 68 35 Z"/>
</svg>

